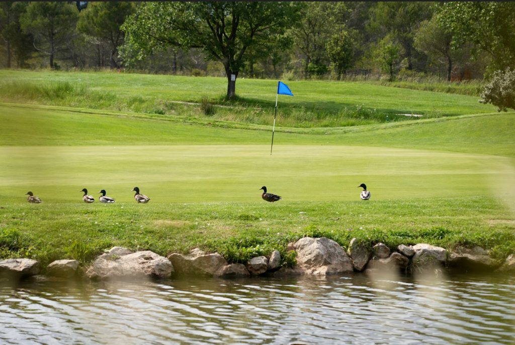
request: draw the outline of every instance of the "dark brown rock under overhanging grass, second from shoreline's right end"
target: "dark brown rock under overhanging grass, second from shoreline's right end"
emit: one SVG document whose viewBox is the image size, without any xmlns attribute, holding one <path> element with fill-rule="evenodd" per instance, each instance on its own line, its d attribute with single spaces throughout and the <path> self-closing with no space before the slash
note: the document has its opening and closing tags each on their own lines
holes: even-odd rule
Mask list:
<svg viewBox="0 0 515 345">
<path fill-rule="evenodd" d="M 499 266 L 481 247 L 456 248 L 451 252 L 448 263 L 452 268 L 470 271 L 491 270 Z"/>
</svg>

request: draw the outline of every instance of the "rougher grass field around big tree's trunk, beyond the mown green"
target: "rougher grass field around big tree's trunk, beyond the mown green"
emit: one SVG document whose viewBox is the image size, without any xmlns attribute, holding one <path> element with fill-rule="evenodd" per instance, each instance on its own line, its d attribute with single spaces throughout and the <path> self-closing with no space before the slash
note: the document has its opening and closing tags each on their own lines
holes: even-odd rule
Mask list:
<svg viewBox="0 0 515 345">
<path fill-rule="evenodd" d="M 115 72 L 49 72 L 0 70 L 0 101 L 49 104 L 102 110 L 189 115 L 254 124 L 269 124 L 276 99 L 276 80 L 237 81 L 238 98 L 226 102 L 225 78 L 117 74 Z M 121 87 L 121 85 L 123 85 Z M 364 82 L 288 81 L 295 97 L 280 96 L 278 124 L 316 128 L 406 121 L 396 114 L 424 117 L 495 111 L 475 96 L 387 87 Z M 215 114 L 198 105 L 210 99 Z"/>
</svg>

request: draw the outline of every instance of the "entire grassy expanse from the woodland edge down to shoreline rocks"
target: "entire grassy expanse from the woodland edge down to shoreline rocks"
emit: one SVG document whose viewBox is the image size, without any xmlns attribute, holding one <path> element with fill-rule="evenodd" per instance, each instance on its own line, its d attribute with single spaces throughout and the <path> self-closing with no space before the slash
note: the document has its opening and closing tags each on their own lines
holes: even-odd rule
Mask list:
<svg viewBox="0 0 515 345">
<path fill-rule="evenodd" d="M 241 98 L 206 116 L 176 101 L 228 105 L 221 78 L 0 75 L 0 98 L 10 103 L 0 104 L 0 258 L 45 265 L 87 262 L 114 245 L 161 255 L 199 246 L 234 262 L 278 249 L 291 263 L 286 244 L 304 235 L 343 246 L 353 237 L 391 248 L 479 245 L 498 259 L 515 252 L 515 116 L 476 97 L 292 82 L 296 96 L 281 96 L 287 115 L 270 155 L 277 81 L 239 80 Z M 152 112 L 163 100 L 174 111 Z M 354 124 L 366 125 L 338 122 L 352 118 L 338 117 L 342 109 L 363 103 L 381 116 L 453 116 L 385 123 L 363 113 Z M 325 119 L 335 127 L 321 127 Z M 369 202 L 358 199 L 361 183 Z M 263 185 L 283 200 L 262 201 Z M 149 204 L 135 204 L 134 186 Z M 84 204 L 82 188 L 96 197 L 106 189 L 117 202 Z M 43 204 L 28 204 L 28 190 Z"/>
</svg>

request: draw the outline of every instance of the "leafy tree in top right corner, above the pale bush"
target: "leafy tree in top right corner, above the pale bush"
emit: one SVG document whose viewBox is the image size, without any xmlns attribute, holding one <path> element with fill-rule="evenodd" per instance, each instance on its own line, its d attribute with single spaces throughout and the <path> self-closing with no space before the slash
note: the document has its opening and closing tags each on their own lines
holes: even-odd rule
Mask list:
<svg viewBox="0 0 515 345">
<path fill-rule="evenodd" d="M 515 67 L 515 3 L 448 2 L 440 22 L 455 33 L 453 44 L 471 41 L 492 57 L 490 70 Z"/>
</svg>

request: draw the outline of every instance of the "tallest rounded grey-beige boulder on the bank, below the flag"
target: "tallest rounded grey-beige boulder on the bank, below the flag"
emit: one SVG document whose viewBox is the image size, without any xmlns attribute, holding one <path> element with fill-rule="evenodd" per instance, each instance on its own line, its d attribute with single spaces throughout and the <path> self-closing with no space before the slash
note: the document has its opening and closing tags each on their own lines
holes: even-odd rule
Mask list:
<svg viewBox="0 0 515 345">
<path fill-rule="evenodd" d="M 308 275 L 331 275 L 353 271 L 351 259 L 338 243 L 325 237 L 304 237 L 294 244 L 297 265 Z"/>
</svg>

